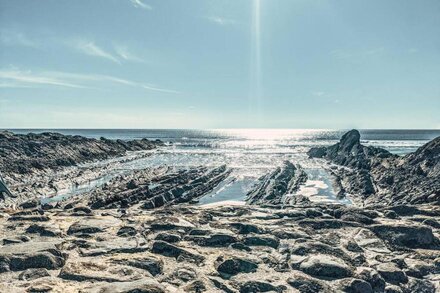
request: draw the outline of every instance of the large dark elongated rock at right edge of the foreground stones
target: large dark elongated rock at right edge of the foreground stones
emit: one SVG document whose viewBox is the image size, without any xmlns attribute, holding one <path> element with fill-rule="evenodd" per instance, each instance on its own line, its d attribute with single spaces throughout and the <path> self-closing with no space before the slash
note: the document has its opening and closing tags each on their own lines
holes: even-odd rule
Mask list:
<svg viewBox="0 0 440 293">
<path fill-rule="evenodd" d="M 435 248 L 438 239 L 425 226 L 374 225 L 370 227 L 378 237 L 397 246 L 410 248 Z"/>
</svg>

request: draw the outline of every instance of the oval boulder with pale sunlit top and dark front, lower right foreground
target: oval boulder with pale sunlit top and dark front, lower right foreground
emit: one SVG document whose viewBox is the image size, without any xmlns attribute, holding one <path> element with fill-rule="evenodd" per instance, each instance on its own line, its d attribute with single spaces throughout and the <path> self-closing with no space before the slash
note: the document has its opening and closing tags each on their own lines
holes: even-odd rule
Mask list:
<svg viewBox="0 0 440 293">
<path fill-rule="evenodd" d="M 353 269 L 341 259 L 328 255 L 313 255 L 304 260 L 299 269 L 318 278 L 341 279 L 353 275 Z"/>
</svg>

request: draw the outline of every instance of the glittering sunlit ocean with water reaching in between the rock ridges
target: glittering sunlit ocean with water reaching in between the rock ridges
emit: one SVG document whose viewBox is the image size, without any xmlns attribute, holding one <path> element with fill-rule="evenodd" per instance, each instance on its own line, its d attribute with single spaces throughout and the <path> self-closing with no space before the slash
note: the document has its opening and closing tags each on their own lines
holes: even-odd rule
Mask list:
<svg viewBox="0 0 440 293">
<path fill-rule="evenodd" d="M 123 163 L 106 178 L 97 178 L 89 186 L 75 187 L 67 194 L 88 191 L 114 176 L 133 169 L 162 165 L 176 168 L 219 166 L 226 164 L 233 170 L 229 178 L 211 193 L 200 199 L 200 204 L 221 201 L 243 201 L 258 179 L 289 160 L 301 164 L 309 180 L 299 191 L 313 201 L 343 202 L 336 199 L 331 180 L 322 160 L 308 159 L 310 147 L 328 146 L 339 141 L 347 130 L 319 129 L 10 129 L 14 133 L 59 132 L 108 139 L 160 139 L 167 147 L 155 150 L 151 156 Z M 440 136 L 440 130 L 360 130 L 361 142 L 405 155 L 429 140 Z M 79 189 L 78 189 L 79 188 Z"/>
</svg>

